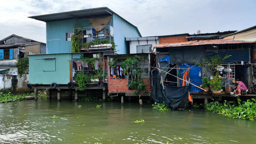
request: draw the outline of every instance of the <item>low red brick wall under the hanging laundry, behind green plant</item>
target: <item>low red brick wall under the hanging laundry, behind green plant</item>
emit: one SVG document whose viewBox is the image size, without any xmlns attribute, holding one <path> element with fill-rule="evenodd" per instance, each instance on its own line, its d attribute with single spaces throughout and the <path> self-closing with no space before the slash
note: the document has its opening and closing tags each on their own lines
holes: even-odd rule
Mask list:
<svg viewBox="0 0 256 144">
<path fill-rule="evenodd" d="M 149 93 L 151 91 L 151 81 L 149 78 L 143 79 L 144 83 L 148 83 L 145 89 Z M 134 90 L 127 89 L 127 79 L 111 79 L 108 80 L 108 93 L 133 93 Z"/>
</svg>

